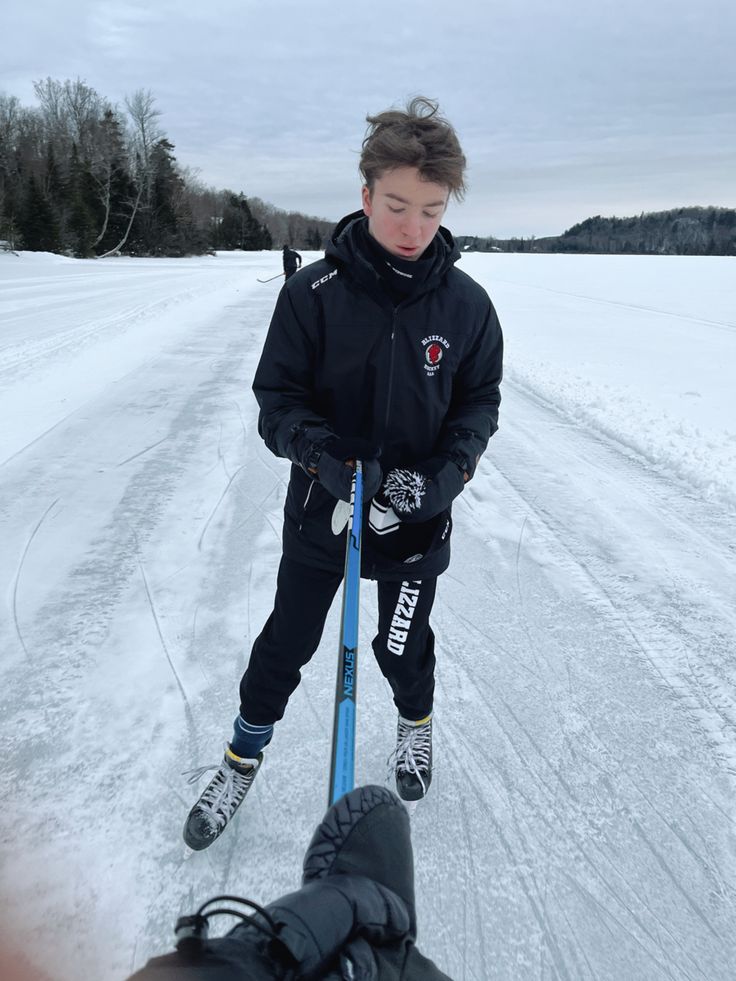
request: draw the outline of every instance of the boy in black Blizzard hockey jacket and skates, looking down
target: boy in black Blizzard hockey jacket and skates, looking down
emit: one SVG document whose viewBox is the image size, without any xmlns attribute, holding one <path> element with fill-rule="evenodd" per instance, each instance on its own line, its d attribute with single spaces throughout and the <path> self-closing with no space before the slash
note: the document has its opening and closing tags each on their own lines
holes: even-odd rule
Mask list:
<svg viewBox="0 0 736 981">
<path fill-rule="evenodd" d="M 378 583 L 373 651 L 398 711 L 399 796 L 422 798 L 432 779 L 429 616 L 450 562 L 452 502 L 498 427 L 503 342 L 488 295 L 456 268 L 460 252 L 440 224 L 450 196 L 465 191 L 454 129 L 424 98 L 368 124 L 362 210 L 337 225 L 324 259 L 282 287 L 253 382 L 259 432 L 292 464 L 283 555 L 225 758 L 186 822 L 195 849 L 243 801 L 319 645 L 343 577 L 356 459 L 362 575 Z M 299 756 L 294 747 L 291 765 L 304 765 Z"/>
</svg>

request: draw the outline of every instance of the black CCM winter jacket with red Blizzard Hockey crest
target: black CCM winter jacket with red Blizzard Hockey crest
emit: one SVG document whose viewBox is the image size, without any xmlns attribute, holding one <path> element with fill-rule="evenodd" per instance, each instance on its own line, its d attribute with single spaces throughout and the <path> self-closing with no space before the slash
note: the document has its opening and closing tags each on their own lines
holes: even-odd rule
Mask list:
<svg viewBox="0 0 736 981">
<path fill-rule="evenodd" d="M 259 431 L 292 461 L 284 553 L 341 570 L 345 531 L 331 527 L 335 499 L 306 472 L 308 448 L 331 434 L 361 437 L 384 473 L 445 456 L 472 478 L 498 428 L 503 340 L 485 290 L 455 268 L 440 228 L 419 288 L 394 305 L 361 247 L 362 212 L 335 229 L 325 258 L 284 284 L 253 382 Z M 382 550 L 364 522 L 367 578 L 428 578 L 450 559 L 449 509 L 424 528 L 423 558 L 407 566 Z"/>
</svg>

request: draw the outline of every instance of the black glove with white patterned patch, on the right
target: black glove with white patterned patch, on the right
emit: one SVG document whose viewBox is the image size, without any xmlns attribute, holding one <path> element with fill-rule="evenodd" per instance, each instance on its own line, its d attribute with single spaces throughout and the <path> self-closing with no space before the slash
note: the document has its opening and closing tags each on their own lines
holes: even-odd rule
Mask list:
<svg viewBox="0 0 736 981">
<path fill-rule="evenodd" d="M 433 457 L 415 467 L 390 470 L 383 489 L 402 521 L 428 521 L 448 508 L 464 486 L 457 464 Z"/>
</svg>

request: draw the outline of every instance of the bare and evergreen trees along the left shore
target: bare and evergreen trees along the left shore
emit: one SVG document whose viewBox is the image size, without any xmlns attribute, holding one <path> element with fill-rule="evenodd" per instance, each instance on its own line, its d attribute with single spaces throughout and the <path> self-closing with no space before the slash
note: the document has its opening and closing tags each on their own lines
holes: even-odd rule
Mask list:
<svg viewBox="0 0 736 981">
<path fill-rule="evenodd" d="M 206 187 L 174 155 L 150 91 L 112 105 L 85 82 L 0 94 L 0 240 L 80 257 L 319 249 L 332 223 Z"/>
</svg>

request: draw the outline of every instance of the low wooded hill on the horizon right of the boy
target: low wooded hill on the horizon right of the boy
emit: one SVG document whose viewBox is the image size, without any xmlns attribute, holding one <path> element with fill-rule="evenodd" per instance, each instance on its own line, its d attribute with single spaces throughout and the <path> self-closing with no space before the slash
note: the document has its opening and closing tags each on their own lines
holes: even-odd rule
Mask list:
<svg viewBox="0 0 736 981">
<path fill-rule="evenodd" d="M 736 210 L 673 208 L 636 218 L 586 218 L 549 238 L 459 236 L 473 252 L 588 252 L 603 255 L 736 255 Z"/>
</svg>

